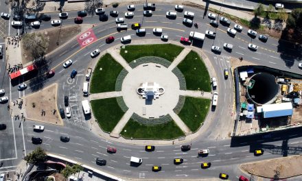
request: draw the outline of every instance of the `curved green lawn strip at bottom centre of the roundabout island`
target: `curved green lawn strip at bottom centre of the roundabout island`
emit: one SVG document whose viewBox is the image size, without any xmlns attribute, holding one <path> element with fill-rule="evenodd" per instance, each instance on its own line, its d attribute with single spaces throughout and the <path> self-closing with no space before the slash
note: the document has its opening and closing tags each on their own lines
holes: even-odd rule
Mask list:
<svg viewBox="0 0 302 181">
<path fill-rule="evenodd" d="M 126 132 L 125 132 L 126 130 Z M 184 136 L 183 131 L 178 128 L 174 121 L 160 125 L 142 125 L 130 119 L 121 131 L 124 138 L 146 138 L 146 139 L 172 139 Z"/>
</svg>

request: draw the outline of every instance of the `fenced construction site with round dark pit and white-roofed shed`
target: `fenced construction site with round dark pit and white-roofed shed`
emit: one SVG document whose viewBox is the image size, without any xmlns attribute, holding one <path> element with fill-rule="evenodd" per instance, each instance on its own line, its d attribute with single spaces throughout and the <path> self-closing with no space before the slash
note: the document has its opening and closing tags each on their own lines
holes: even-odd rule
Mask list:
<svg viewBox="0 0 302 181">
<path fill-rule="evenodd" d="M 234 70 L 236 120 L 233 136 L 302 125 L 302 75 L 264 66 Z"/>
</svg>

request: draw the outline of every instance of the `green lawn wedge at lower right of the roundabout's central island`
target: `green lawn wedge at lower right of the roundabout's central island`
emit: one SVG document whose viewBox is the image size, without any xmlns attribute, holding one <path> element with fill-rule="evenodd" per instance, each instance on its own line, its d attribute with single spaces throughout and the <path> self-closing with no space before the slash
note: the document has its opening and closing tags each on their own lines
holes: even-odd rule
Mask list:
<svg viewBox="0 0 302 181">
<path fill-rule="evenodd" d="M 192 132 L 196 132 L 200 124 L 205 120 L 210 104 L 210 99 L 185 97 L 185 105 L 179 112 L 178 117 L 183 120 Z"/>
</svg>

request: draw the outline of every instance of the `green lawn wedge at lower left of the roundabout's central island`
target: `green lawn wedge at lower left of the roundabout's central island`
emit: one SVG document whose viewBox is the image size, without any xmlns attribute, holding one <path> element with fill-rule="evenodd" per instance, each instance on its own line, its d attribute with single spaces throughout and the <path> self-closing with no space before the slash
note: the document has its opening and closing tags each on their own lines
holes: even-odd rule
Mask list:
<svg viewBox="0 0 302 181">
<path fill-rule="evenodd" d="M 111 132 L 124 115 L 115 97 L 92 100 L 91 107 L 95 119 L 105 132 Z"/>
</svg>

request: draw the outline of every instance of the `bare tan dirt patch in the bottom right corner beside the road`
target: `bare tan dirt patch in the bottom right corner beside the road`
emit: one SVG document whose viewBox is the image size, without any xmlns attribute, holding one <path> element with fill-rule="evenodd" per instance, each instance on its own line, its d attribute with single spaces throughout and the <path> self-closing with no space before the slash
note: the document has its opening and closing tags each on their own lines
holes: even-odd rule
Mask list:
<svg viewBox="0 0 302 181">
<path fill-rule="evenodd" d="M 302 174 L 302 156 L 290 156 L 240 165 L 240 169 L 264 178 L 290 178 Z"/>
</svg>

